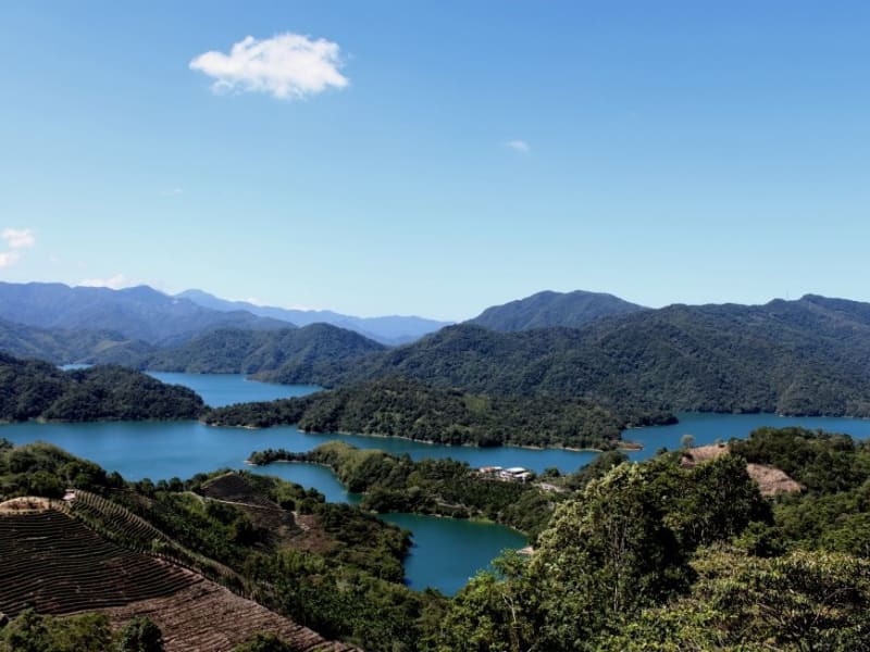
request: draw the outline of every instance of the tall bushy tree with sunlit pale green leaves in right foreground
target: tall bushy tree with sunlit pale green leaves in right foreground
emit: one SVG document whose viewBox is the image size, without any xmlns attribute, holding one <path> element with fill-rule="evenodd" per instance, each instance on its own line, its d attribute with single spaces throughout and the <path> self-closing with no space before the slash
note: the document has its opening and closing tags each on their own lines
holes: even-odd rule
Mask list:
<svg viewBox="0 0 870 652">
<path fill-rule="evenodd" d="M 687 588 L 692 572 L 649 489 L 654 473 L 621 464 L 557 507 L 529 569 L 540 650 L 586 649 L 609 624 Z"/>
</svg>

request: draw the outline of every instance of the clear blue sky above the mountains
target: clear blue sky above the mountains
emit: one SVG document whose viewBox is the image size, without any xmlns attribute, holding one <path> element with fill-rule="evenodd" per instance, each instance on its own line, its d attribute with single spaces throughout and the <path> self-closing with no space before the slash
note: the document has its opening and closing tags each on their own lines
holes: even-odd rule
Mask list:
<svg viewBox="0 0 870 652">
<path fill-rule="evenodd" d="M 868 34 L 866 1 L 3 2 L 0 279 L 870 300 Z"/>
</svg>

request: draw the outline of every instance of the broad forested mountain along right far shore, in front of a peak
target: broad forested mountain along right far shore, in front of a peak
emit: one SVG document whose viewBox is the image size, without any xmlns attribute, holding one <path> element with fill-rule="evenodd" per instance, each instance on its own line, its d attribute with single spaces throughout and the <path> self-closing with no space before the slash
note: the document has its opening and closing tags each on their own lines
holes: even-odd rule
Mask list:
<svg viewBox="0 0 870 652">
<path fill-rule="evenodd" d="M 569 396 L 617 410 L 866 416 L 870 305 L 807 296 L 672 305 L 579 329 L 504 334 L 459 325 L 311 371 L 294 377 L 331 387 L 400 374 L 475 393 Z"/>
</svg>

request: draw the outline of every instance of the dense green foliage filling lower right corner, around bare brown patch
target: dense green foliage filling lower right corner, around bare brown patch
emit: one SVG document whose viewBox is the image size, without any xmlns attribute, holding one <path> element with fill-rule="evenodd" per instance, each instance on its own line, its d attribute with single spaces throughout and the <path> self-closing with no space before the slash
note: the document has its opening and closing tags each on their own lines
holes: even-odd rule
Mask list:
<svg viewBox="0 0 870 652">
<path fill-rule="evenodd" d="M 694 468 L 668 454 L 572 476 L 585 489 L 531 562 L 508 557 L 457 595 L 440 649 L 870 649 L 867 444 L 761 428 L 731 447 Z M 762 501 L 737 453 L 807 491 Z"/>
</svg>

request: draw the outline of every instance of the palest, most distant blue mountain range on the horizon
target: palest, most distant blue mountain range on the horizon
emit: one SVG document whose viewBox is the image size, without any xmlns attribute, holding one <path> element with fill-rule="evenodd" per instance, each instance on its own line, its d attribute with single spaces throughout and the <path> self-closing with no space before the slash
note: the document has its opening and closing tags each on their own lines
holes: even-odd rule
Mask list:
<svg viewBox="0 0 870 652">
<path fill-rule="evenodd" d="M 309 324 L 332 324 L 348 330 L 356 330 L 360 335 L 383 344 L 403 344 L 420 339 L 449 325 L 449 322 L 425 319 L 415 316 L 390 315 L 384 317 L 355 317 L 343 315 L 331 310 L 294 310 L 270 305 L 256 305 L 247 301 L 227 301 L 202 290 L 186 290 L 176 297 L 189 299 L 194 303 L 220 311 L 244 310 L 262 317 L 271 317 L 290 322 L 297 326 Z"/>
</svg>

